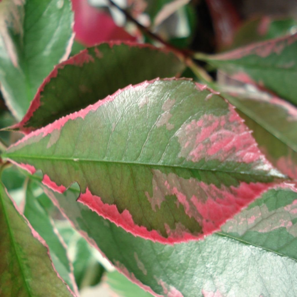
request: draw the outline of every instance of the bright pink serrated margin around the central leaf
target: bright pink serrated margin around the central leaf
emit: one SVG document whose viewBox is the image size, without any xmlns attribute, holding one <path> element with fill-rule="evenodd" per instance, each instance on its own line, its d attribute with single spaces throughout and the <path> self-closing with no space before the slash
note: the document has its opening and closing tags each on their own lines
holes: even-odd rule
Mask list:
<svg viewBox="0 0 297 297">
<path fill-rule="evenodd" d="M 90 111 L 97 110 L 101 105 L 104 105 L 106 102 L 113 101 L 121 92 L 125 90 L 131 90 L 135 89 L 136 91 L 146 89 L 149 84 L 154 83 L 155 81 L 160 80 L 159 78 L 151 80 L 151 81 L 144 81 L 143 83 L 139 83 L 137 85 L 129 85 L 125 87 L 124 89 L 119 89 L 116 91 L 113 95 L 110 95 L 106 97 L 105 99 L 99 100 L 94 105 L 89 105 L 85 109 L 80 110 L 79 112 L 75 112 L 72 114 L 69 114 L 65 117 L 62 117 L 61 119 L 56 120 L 52 124 L 48 124 L 47 126 L 31 132 L 29 135 L 24 136 L 22 139 L 20 139 L 17 143 L 12 144 L 9 149 L 14 148 L 18 145 L 21 145 L 24 143 L 27 139 L 33 137 L 33 136 L 41 136 L 42 138 L 46 135 L 50 134 L 54 130 L 60 130 L 61 127 L 64 126 L 64 124 L 69 120 L 74 120 L 78 117 L 84 119 L 86 114 L 88 114 Z M 176 78 L 167 78 L 162 80 L 185 80 L 185 79 L 176 79 Z M 189 79 L 187 79 L 189 80 Z M 198 90 L 204 90 L 208 89 L 205 85 L 201 85 L 198 83 L 195 83 L 196 89 Z M 211 89 L 208 89 L 211 92 Z M 212 94 L 212 93 L 211 93 Z M 214 92 L 214 94 L 217 94 L 217 92 Z M 235 112 L 234 108 L 230 103 L 228 103 L 229 108 L 232 110 L 233 117 L 236 117 L 238 119 L 239 124 L 244 125 L 244 121 L 238 116 L 238 114 Z M 253 140 L 253 138 L 251 137 Z M 255 141 L 254 141 L 255 142 Z M 256 145 L 256 142 L 254 143 Z M 259 150 L 257 150 L 258 157 L 262 159 L 263 164 L 267 167 L 272 169 L 272 165 L 265 159 L 264 155 L 260 153 Z M 27 170 L 29 173 L 33 174 L 36 171 L 36 168 L 34 166 L 24 163 L 16 163 L 15 161 L 7 158 L 10 162 L 14 163 L 15 165 L 18 165 L 19 167 Z M 54 181 L 50 180 L 50 177 L 46 174 L 43 176 L 42 180 L 43 184 L 50 187 L 50 189 L 53 189 L 56 192 L 63 193 L 66 190 L 66 187 L 64 185 L 57 185 Z M 73 181 L 75 182 L 75 181 Z M 134 223 L 131 214 L 128 210 L 123 211 L 122 213 L 119 213 L 116 205 L 109 205 L 106 203 L 103 203 L 101 198 L 93 195 L 88 189 L 86 189 L 85 193 L 80 193 L 80 196 L 78 198 L 78 201 L 86 204 L 89 208 L 91 208 L 93 211 L 96 211 L 98 215 L 103 216 L 106 219 L 109 219 L 110 221 L 114 222 L 117 226 L 121 226 L 126 231 L 132 233 L 135 236 L 141 236 L 146 239 L 150 239 L 152 241 L 158 241 L 164 244 L 174 244 L 178 242 L 184 242 L 189 240 L 197 240 L 202 239 L 204 236 L 211 234 L 219 229 L 219 227 L 230 217 L 232 217 L 234 214 L 236 214 L 238 211 L 240 211 L 243 207 L 247 206 L 250 202 L 252 202 L 255 198 L 257 198 L 262 192 L 268 190 L 269 188 L 273 187 L 273 183 L 250 183 L 246 184 L 244 182 L 241 182 L 239 187 L 231 187 L 232 193 L 217 189 L 216 187 L 212 187 L 214 185 L 209 185 L 207 187 L 207 191 L 209 193 L 214 193 L 212 196 L 216 197 L 217 193 L 219 193 L 219 197 L 224 196 L 225 191 L 225 199 L 218 199 L 218 201 L 214 201 L 214 199 L 209 198 L 206 203 L 198 203 L 198 201 L 192 201 L 193 205 L 196 206 L 197 210 L 202 214 L 203 220 L 200 222 L 201 226 L 203 227 L 203 233 L 199 234 L 192 234 L 188 230 L 184 230 L 183 228 L 179 228 L 179 226 L 176 226 L 176 230 L 169 230 L 170 235 L 168 238 L 165 238 L 161 236 L 157 230 L 147 230 L 144 226 L 138 226 Z M 201 184 L 201 187 L 206 187 L 205 184 Z M 252 195 L 247 195 L 246 192 L 249 191 L 252 193 Z M 235 194 L 238 195 L 238 199 L 235 199 Z M 236 202 L 236 203 L 235 203 Z M 226 208 L 225 206 L 228 206 L 229 204 L 234 204 L 234 207 Z M 222 209 L 224 208 L 225 212 L 222 212 Z M 220 213 L 222 215 L 221 219 L 217 220 L 214 217 L 214 214 L 209 209 L 216 209 L 217 213 Z"/>
</svg>

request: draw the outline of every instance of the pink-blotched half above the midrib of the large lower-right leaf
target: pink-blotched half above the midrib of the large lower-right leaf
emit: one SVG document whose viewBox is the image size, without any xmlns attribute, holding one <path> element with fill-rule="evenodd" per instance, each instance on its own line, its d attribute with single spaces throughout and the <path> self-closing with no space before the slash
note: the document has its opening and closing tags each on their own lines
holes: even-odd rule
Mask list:
<svg viewBox="0 0 297 297">
<path fill-rule="evenodd" d="M 297 260 L 297 189 L 269 190 L 222 226 L 223 234 Z"/>
</svg>

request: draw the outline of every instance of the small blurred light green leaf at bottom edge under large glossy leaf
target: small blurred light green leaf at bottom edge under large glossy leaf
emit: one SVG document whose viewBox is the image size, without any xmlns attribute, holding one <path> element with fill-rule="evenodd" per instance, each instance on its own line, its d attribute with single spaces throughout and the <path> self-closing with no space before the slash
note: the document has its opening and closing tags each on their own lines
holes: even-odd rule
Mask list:
<svg viewBox="0 0 297 297">
<path fill-rule="evenodd" d="M 108 272 L 106 275 L 109 287 L 121 297 L 152 297 L 151 293 L 135 285 L 118 271 Z"/>
</svg>

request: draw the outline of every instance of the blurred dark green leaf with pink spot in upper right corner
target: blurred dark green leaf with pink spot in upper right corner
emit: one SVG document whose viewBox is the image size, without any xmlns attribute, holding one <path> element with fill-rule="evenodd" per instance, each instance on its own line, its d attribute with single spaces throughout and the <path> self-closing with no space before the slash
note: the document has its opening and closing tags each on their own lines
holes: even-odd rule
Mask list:
<svg viewBox="0 0 297 297">
<path fill-rule="evenodd" d="M 296 25 L 297 20 L 293 18 L 271 18 L 269 16 L 252 18 L 236 30 L 233 42 L 228 49 L 290 35 Z"/>
</svg>

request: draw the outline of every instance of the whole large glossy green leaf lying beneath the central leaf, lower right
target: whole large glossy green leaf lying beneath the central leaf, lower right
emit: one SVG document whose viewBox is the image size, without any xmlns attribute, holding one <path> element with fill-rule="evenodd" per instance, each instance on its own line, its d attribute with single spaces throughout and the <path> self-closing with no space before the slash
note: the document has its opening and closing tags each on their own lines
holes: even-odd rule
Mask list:
<svg viewBox="0 0 297 297">
<path fill-rule="evenodd" d="M 244 211 L 239 213 L 231 221 L 234 223 L 233 230 L 230 229 L 232 233 L 226 236 L 212 234 L 204 240 L 174 245 L 134 237 L 116 227 L 82 203 L 76 203 L 75 189 L 70 188 L 63 194 L 49 189 L 45 192 L 75 228 L 120 272 L 155 296 L 293 297 L 297 286 L 297 241 L 296 234 L 292 236 L 297 226 L 294 219 L 297 193 L 296 188 L 290 185 L 283 187 L 287 188 L 269 190 L 265 196 L 255 200 L 248 208 L 252 211 L 251 216 L 246 217 Z M 264 212 L 265 208 L 269 208 L 271 216 Z M 259 211 L 265 214 L 263 220 L 258 216 Z M 257 215 L 253 225 L 252 215 Z M 287 220 L 292 218 L 292 225 L 281 221 L 281 216 Z M 279 228 L 276 222 L 280 223 Z M 256 229 L 256 223 L 264 228 L 271 225 L 274 230 L 258 232 L 253 245 L 248 241 L 253 239 L 248 227 Z M 230 228 L 230 225 L 227 221 L 222 229 Z M 244 228 L 247 232 L 239 233 L 236 238 L 236 230 Z"/>
</svg>

